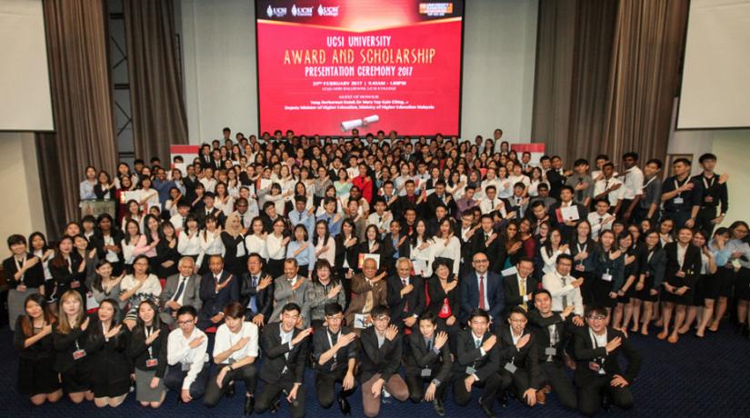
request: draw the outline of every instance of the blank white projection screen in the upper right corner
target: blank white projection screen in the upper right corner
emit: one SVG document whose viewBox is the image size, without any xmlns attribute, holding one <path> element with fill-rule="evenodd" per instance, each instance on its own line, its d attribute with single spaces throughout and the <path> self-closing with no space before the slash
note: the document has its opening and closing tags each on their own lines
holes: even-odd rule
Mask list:
<svg viewBox="0 0 750 418">
<path fill-rule="evenodd" d="M 750 126 L 750 0 L 691 0 L 677 129 Z"/>
</svg>

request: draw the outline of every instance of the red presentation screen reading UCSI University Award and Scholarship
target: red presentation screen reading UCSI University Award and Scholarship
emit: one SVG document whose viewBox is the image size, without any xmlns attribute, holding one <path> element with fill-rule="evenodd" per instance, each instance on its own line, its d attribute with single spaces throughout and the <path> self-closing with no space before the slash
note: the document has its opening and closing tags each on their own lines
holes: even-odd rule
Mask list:
<svg viewBox="0 0 750 418">
<path fill-rule="evenodd" d="M 255 5 L 261 132 L 459 134 L 463 1 Z"/>
</svg>

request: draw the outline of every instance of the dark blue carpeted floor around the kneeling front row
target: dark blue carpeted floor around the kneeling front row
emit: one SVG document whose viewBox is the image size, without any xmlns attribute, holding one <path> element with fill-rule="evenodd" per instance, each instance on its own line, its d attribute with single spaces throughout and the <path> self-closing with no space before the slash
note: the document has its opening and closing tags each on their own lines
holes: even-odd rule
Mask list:
<svg viewBox="0 0 750 418">
<path fill-rule="evenodd" d="M 633 386 L 635 410 L 629 413 L 613 408 L 608 415 L 613 416 L 680 416 L 680 417 L 748 417 L 750 416 L 750 341 L 732 333 L 725 325 L 725 330 L 710 334 L 705 340 L 685 336 L 676 345 L 658 341 L 655 335 L 642 337 L 631 335 L 635 346 L 644 356 L 643 368 Z M 131 394 L 125 403 L 115 409 L 97 409 L 93 403 L 75 405 L 63 400 L 54 405 L 45 404 L 34 407 L 15 392 L 17 361 L 12 345 L 12 333 L 7 328 L 0 329 L 0 353 L 5 361 L 0 362 L 0 416 L 106 416 L 111 417 L 185 417 L 211 415 L 216 417 L 241 416 L 242 384 L 239 383 L 237 395 L 224 399 L 213 410 L 202 403 L 177 404 L 175 393 L 168 393 L 164 405 L 158 410 L 145 410 L 135 402 Z M 329 410 L 321 408 L 315 399 L 315 380 L 312 372 L 306 374 L 307 390 L 306 416 L 340 416 L 336 406 Z M 261 383 L 262 384 L 262 383 Z M 446 416 L 483 417 L 476 406 L 478 394 L 475 391 L 473 403 L 465 408 L 457 407 L 451 395 L 445 402 Z M 450 391 L 449 391 L 450 393 Z M 361 393 L 357 391 L 350 398 L 352 416 L 364 416 L 362 413 Z M 288 416 L 285 403 L 276 416 Z M 566 411 L 557 402 L 555 394 L 547 398 L 545 406 L 528 408 L 513 401 L 507 408 L 495 403 L 498 416 L 580 416 Z M 427 403 L 399 403 L 393 401 L 384 404 L 380 416 L 408 417 L 435 416 L 432 405 Z M 274 416 L 265 413 L 265 416 Z"/>
</svg>

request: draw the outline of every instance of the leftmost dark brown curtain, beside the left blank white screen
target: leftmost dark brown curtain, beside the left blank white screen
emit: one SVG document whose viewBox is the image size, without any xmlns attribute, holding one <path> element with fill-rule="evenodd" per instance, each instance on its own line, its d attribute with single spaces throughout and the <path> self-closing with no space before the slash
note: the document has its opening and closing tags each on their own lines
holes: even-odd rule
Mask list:
<svg viewBox="0 0 750 418">
<path fill-rule="evenodd" d="M 55 132 L 36 134 L 47 233 L 78 220 L 85 167 L 114 173 L 115 124 L 99 0 L 45 0 L 45 29 Z"/>
</svg>

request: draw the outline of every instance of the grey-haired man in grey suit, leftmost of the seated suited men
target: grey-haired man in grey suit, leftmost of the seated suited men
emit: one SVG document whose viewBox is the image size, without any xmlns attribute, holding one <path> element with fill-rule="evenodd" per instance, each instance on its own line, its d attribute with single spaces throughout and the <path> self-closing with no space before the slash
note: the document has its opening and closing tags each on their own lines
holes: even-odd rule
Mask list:
<svg viewBox="0 0 750 418">
<path fill-rule="evenodd" d="M 159 296 L 162 312 L 159 317 L 164 323 L 175 322 L 175 314 L 180 307 L 190 305 L 196 311 L 201 309 L 200 298 L 201 276 L 195 273 L 195 261 L 192 257 L 183 257 L 177 264 L 179 274 L 166 278 L 166 284 Z"/>
</svg>

